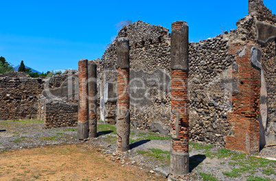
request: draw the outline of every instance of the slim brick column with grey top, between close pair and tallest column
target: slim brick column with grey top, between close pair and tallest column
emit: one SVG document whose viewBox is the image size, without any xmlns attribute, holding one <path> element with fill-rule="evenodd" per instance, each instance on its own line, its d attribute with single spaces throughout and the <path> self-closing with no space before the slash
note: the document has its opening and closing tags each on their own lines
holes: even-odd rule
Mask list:
<svg viewBox="0 0 276 181">
<path fill-rule="evenodd" d="M 117 40 L 117 152 L 129 149 L 130 135 L 130 97 L 129 84 L 129 40 Z"/>
</svg>

